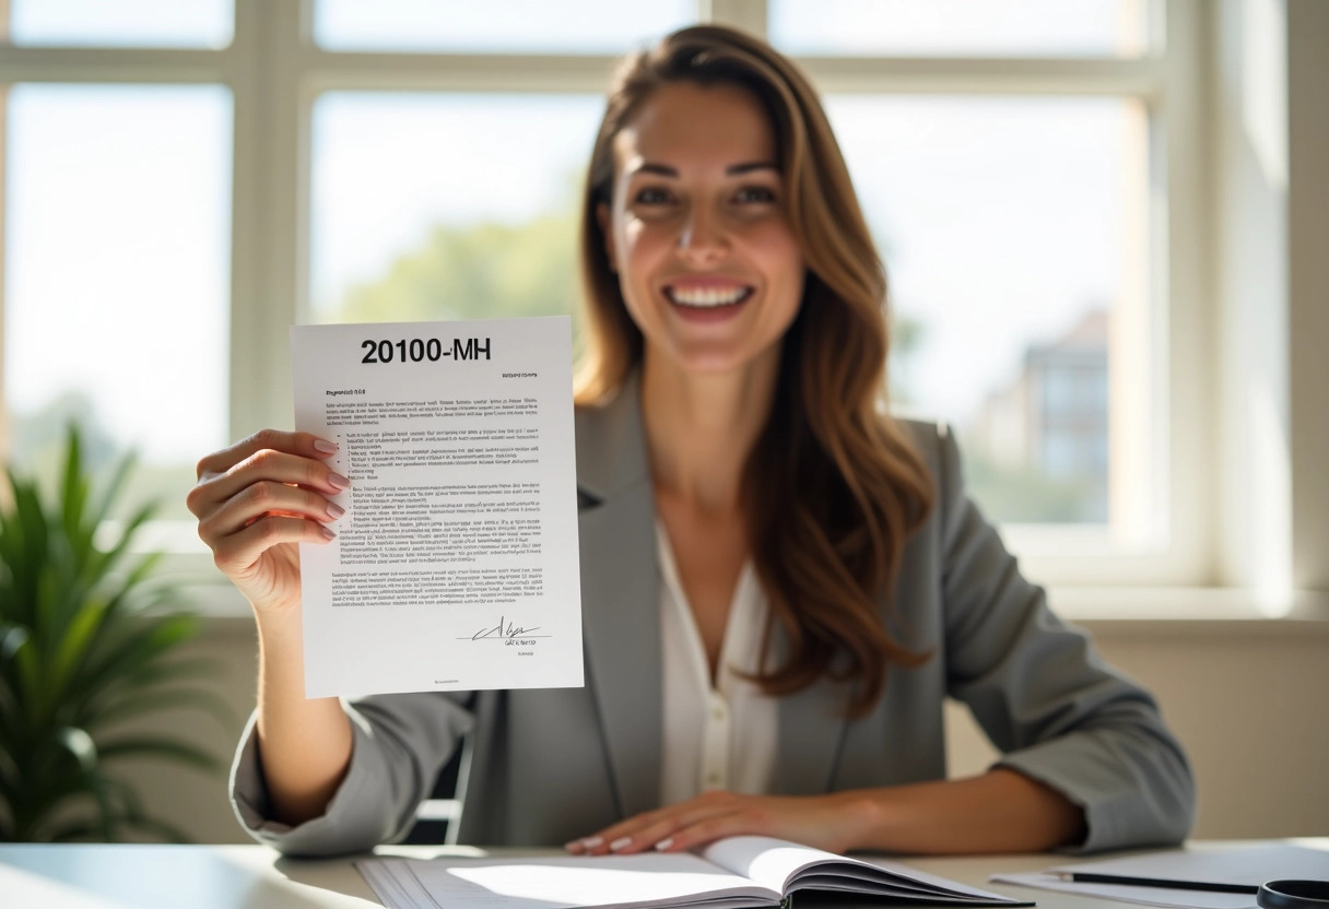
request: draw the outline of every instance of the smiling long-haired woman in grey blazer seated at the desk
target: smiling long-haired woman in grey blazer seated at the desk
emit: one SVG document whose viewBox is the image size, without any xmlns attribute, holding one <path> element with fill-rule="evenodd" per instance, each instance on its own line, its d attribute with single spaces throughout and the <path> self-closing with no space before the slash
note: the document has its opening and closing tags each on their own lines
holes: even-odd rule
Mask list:
<svg viewBox="0 0 1329 909">
<path fill-rule="evenodd" d="M 254 605 L 233 773 L 288 853 L 404 836 L 472 736 L 461 839 L 679 851 L 1102 849 L 1181 839 L 1185 758 L 965 498 L 945 431 L 884 415 L 885 279 L 804 77 L 699 27 L 630 58 L 583 211 L 577 454 L 587 686 L 306 700 L 298 542 L 346 488 L 263 432 L 190 508 Z M 941 704 L 1005 756 L 945 776 Z"/>
</svg>

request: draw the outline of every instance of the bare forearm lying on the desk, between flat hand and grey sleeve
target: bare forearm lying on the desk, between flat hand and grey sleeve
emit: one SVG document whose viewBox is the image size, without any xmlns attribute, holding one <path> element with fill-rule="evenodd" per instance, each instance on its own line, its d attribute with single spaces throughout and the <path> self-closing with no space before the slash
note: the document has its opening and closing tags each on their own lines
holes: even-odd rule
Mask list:
<svg viewBox="0 0 1329 909">
<path fill-rule="evenodd" d="M 841 793 L 848 795 L 848 793 Z M 918 855 L 1043 852 L 1084 839 L 1084 812 L 1011 769 L 861 789 L 856 849 Z"/>
</svg>

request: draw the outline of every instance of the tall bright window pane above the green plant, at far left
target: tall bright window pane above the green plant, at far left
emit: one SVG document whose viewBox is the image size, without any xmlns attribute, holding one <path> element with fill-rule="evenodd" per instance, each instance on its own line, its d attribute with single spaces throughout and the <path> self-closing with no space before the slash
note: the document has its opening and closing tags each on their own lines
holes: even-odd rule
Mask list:
<svg viewBox="0 0 1329 909">
<path fill-rule="evenodd" d="M 226 444 L 231 101 L 223 86 L 8 89 L 4 381 L 11 451 L 54 476 L 65 425 L 93 464 L 186 520 Z M 114 517 L 128 517 L 118 514 Z"/>
</svg>

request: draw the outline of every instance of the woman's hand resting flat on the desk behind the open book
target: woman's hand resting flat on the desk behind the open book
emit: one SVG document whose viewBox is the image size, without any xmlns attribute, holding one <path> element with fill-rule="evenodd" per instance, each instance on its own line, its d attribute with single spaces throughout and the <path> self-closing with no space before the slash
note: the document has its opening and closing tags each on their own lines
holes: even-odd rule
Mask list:
<svg viewBox="0 0 1329 909">
<path fill-rule="evenodd" d="M 828 852 L 852 849 L 869 824 L 861 792 L 825 796 L 754 796 L 712 791 L 647 811 L 573 840 L 573 855 L 684 852 L 726 836 L 773 836 Z"/>
</svg>

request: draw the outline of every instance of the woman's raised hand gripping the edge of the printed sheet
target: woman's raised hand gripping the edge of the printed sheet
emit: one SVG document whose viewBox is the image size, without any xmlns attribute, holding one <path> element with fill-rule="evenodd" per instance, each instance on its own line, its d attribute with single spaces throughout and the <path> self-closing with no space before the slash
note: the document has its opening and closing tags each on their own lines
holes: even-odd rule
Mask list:
<svg viewBox="0 0 1329 909">
<path fill-rule="evenodd" d="M 326 544 L 342 516 L 330 496 L 351 482 L 323 461 L 336 445 L 307 432 L 263 429 L 198 462 L 186 496 L 217 567 L 256 610 L 300 602 L 300 550 Z"/>
</svg>

